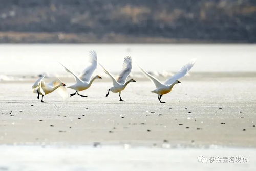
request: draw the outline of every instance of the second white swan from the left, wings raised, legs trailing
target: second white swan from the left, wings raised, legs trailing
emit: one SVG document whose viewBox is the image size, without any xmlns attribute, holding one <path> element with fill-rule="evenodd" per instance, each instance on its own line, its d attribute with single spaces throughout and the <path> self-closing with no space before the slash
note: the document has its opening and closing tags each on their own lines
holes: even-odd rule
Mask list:
<svg viewBox="0 0 256 171">
<path fill-rule="evenodd" d="M 88 89 L 91 85 L 92 82 L 95 79 L 102 79 L 100 76 L 95 76 L 93 78 L 92 74 L 94 72 L 94 70 L 97 68 L 97 54 L 95 51 L 90 51 L 90 60 L 89 60 L 89 65 L 87 66 L 86 69 L 83 70 L 83 72 L 79 75 L 79 77 L 77 77 L 73 72 L 71 72 L 69 69 L 67 69 L 64 65 L 62 65 L 65 70 L 67 72 L 69 72 L 70 74 L 72 74 L 74 76 L 74 78 L 76 79 L 76 83 L 74 85 L 69 86 L 68 88 L 71 88 L 73 90 L 76 90 L 76 92 L 74 94 L 70 94 L 70 96 L 73 95 L 80 95 L 81 97 L 87 97 L 84 95 L 79 94 L 79 91 L 83 91 Z"/>
</svg>

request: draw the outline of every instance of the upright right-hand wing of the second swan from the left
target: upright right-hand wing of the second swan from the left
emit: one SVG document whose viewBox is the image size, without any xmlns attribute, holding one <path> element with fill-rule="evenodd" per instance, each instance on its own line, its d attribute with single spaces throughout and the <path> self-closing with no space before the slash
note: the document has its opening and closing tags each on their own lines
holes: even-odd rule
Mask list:
<svg viewBox="0 0 256 171">
<path fill-rule="evenodd" d="M 91 80 L 92 74 L 94 70 L 97 68 L 97 54 L 95 51 L 89 52 L 89 65 L 82 71 L 82 73 L 79 75 L 79 78 L 82 81 L 89 82 Z"/>
</svg>

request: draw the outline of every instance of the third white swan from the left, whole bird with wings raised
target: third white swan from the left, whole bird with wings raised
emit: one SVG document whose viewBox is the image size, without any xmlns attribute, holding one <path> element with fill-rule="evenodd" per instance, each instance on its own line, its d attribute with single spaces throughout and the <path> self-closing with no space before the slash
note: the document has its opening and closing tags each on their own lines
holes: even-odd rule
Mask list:
<svg viewBox="0 0 256 171">
<path fill-rule="evenodd" d="M 103 70 L 110 76 L 110 78 L 113 81 L 113 87 L 108 89 L 108 93 L 106 94 L 106 97 L 108 97 L 110 91 L 113 93 L 118 93 L 119 92 L 119 97 L 120 101 L 124 101 L 121 98 L 121 91 L 125 89 L 127 84 L 130 82 L 135 82 L 134 79 L 130 79 L 129 81 L 126 81 L 127 77 L 129 76 L 130 72 L 132 71 L 132 58 L 131 57 L 125 57 L 123 61 L 123 69 L 120 75 L 118 76 L 117 79 L 115 79 L 110 72 L 108 72 L 102 65 L 100 65 Z"/>
</svg>

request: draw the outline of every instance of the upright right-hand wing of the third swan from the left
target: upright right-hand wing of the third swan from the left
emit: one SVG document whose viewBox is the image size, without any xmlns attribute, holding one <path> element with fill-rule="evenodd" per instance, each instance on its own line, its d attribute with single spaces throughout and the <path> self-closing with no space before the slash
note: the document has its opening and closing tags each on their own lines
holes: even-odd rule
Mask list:
<svg viewBox="0 0 256 171">
<path fill-rule="evenodd" d="M 132 71 L 132 58 L 125 57 L 123 61 L 123 69 L 120 75 L 118 76 L 117 81 L 120 84 L 124 84 L 131 71 Z"/>
</svg>

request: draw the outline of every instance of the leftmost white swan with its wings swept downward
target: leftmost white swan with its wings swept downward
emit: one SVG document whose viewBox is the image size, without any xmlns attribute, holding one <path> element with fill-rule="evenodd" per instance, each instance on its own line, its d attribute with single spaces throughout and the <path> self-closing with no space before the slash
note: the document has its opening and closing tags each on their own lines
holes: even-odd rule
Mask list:
<svg viewBox="0 0 256 171">
<path fill-rule="evenodd" d="M 44 102 L 44 95 L 50 94 L 57 88 L 60 90 L 59 93 L 62 97 L 67 94 L 66 88 L 63 87 L 66 86 L 66 84 L 62 83 L 59 79 L 46 84 L 44 78 L 45 76 L 40 77 L 32 86 L 33 92 L 37 94 L 37 99 L 39 99 L 39 95 L 42 95 L 41 102 Z"/>
</svg>

